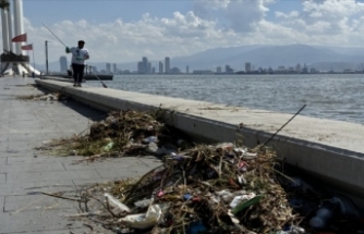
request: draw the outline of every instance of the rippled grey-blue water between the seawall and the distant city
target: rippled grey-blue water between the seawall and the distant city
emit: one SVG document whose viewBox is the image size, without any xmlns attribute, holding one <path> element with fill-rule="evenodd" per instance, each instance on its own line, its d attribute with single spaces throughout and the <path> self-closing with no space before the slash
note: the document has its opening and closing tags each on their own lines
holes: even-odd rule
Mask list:
<svg viewBox="0 0 364 234">
<path fill-rule="evenodd" d="M 108 87 L 364 123 L 364 75 L 116 75 Z M 87 82 L 100 86 L 98 81 Z"/>
</svg>

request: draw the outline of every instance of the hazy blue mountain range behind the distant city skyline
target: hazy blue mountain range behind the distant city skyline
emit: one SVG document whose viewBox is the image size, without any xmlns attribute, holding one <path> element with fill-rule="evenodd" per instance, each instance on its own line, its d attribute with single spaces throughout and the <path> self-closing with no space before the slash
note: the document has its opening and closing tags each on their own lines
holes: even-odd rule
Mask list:
<svg viewBox="0 0 364 234">
<path fill-rule="evenodd" d="M 141 56 L 142 60 L 143 54 Z M 161 58 L 163 62 L 163 58 Z M 119 70 L 135 71 L 137 62 L 117 63 Z M 150 61 L 151 66 L 158 72 L 159 61 Z M 186 57 L 170 58 L 171 67 L 179 67 L 182 72 L 189 65 L 190 72 L 193 70 L 213 70 L 225 65 L 230 65 L 235 71 L 243 71 L 244 64 L 250 62 L 255 69 L 259 66 L 276 70 L 278 66 L 295 66 L 306 64 L 308 69 L 314 67 L 318 71 L 341 72 L 349 70 L 363 70 L 364 48 L 345 47 L 318 47 L 307 45 L 288 46 L 242 46 L 229 48 L 216 48 L 196 52 Z M 98 71 L 106 70 L 107 62 L 89 62 L 97 66 Z M 112 63 L 112 62 L 111 62 Z M 59 62 L 50 62 L 49 71 L 59 72 Z M 45 64 L 37 64 L 37 67 L 45 71 Z"/>
</svg>

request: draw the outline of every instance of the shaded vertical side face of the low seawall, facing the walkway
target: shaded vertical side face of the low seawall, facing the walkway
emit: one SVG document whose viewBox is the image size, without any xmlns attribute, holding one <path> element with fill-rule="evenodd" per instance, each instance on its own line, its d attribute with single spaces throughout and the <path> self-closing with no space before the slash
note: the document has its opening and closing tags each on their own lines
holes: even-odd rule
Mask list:
<svg viewBox="0 0 364 234">
<path fill-rule="evenodd" d="M 36 83 L 46 89 L 61 91 L 84 104 L 105 112 L 112 110 L 144 111 L 157 108 L 102 96 L 87 91 L 87 89 L 61 87 L 39 79 Z M 241 136 L 244 145 L 255 147 L 257 144 L 265 143 L 271 136 L 271 134 L 262 131 L 246 127 L 238 130 L 238 126 L 232 124 L 180 112 L 166 113 L 166 120 L 168 120 L 168 124 L 202 140 L 234 141 Z M 321 180 L 327 186 L 340 187 L 364 208 L 363 153 L 283 136 L 276 136 L 269 145 L 275 146 L 279 156 L 284 157 L 286 161 L 293 168 L 303 170 Z"/>
</svg>

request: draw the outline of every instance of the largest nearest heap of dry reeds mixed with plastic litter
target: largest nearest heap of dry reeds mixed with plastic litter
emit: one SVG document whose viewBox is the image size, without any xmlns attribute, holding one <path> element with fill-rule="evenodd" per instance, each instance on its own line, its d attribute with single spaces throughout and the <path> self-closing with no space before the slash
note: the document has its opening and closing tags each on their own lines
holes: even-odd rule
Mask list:
<svg viewBox="0 0 364 234">
<path fill-rule="evenodd" d="M 277 183 L 280 163 L 267 149 L 233 144 L 171 153 L 138 181 L 99 189 L 98 222 L 136 233 L 276 233 L 299 222 Z"/>
</svg>

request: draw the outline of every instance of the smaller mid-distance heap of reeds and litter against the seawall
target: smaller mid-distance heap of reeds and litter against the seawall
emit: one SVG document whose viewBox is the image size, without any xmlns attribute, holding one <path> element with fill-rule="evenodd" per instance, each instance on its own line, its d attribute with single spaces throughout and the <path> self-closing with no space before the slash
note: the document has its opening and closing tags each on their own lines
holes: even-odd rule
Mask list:
<svg viewBox="0 0 364 234">
<path fill-rule="evenodd" d="M 41 149 L 61 156 L 125 157 L 162 156 L 191 147 L 185 134 L 163 123 L 162 113 L 161 109 L 113 111 L 104 121 L 93 123 L 84 135 L 54 139 Z"/>
</svg>

